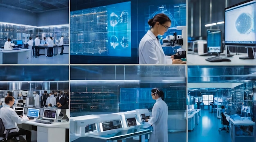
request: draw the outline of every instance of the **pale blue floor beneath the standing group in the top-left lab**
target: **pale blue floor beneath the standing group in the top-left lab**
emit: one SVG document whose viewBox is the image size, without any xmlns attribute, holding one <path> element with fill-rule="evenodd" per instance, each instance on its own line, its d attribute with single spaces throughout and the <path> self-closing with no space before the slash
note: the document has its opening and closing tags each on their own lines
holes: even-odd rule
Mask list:
<svg viewBox="0 0 256 142">
<path fill-rule="evenodd" d="M 68 64 L 69 63 L 69 55 L 54 55 L 53 57 L 46 57 L 45 55 L 40 55 L 37 58 L 28 58 L 27 64 Z"/>
</svg>

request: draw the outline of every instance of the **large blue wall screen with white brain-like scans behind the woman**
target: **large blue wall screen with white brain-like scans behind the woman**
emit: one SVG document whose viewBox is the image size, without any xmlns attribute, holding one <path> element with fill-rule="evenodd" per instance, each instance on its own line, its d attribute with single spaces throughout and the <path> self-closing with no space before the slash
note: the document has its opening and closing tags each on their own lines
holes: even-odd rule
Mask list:
<svg viewBox="0 0 256 142">
<path fill-rule="evenodd" d="M 131 57 L 130 2 L 70 12 L 70 55 Z"/>
</svg>

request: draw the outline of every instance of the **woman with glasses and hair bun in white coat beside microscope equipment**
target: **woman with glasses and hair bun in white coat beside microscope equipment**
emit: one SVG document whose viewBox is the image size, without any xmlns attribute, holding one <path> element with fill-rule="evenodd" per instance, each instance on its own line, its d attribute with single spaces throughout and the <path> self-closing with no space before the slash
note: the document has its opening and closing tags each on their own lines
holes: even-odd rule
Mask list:
<svg viewBox="0 0 256 142">
<path fill-rule="evenodd" d="M 171 56 L 165 56 L 159 42 L 158 35 L 164 35 L 171 26 L 171 20 L 163 13 L 159 13 L 148 20 L 150 30 L 139 42 L 140 64 L 172 64 Z"/>
</svg>

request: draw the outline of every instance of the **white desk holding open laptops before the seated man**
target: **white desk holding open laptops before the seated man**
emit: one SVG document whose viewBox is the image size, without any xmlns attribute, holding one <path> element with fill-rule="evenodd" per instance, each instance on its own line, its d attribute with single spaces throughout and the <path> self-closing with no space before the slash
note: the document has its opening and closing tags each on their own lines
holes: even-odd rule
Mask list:
<svg viewBox="0 0 256 142">
<path fill-rule="evenodd" d="M 53 122 L 52 124 L 43 124 L 29 120 L 21 125 L 21 128 L 31 130 L 31 125 L 37 127 L 37 142 L 65 142 L 66 129 L 69 129 L 70 122 Z M 20 127 L 19 125 L 19 127 Z M 33 137 L 33 135 L 32 135 Z"/>
</svg>

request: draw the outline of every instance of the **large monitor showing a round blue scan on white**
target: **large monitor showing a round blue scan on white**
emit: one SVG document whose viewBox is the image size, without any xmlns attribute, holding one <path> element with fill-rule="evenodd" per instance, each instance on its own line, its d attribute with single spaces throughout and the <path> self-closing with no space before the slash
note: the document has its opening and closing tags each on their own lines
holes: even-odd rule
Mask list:
<svg viewBox="0 0 256 142">
<path fill-rule="evenodd" d="M 256 0 L 225 8 L 225 45 L 255 46 Z"/>
</svg>

